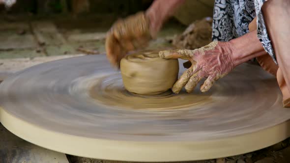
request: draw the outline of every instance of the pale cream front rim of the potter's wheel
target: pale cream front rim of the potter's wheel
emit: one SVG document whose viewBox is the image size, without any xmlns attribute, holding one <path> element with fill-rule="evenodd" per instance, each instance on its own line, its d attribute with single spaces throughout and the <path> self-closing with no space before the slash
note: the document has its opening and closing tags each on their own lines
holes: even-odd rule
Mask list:
<svg viewBox="0 0 290 163">
<path fill-rule="evenodd" d="M 0 122 L 11 133 L 61 153 L 118 161 L 173 162 L 234 156 L 268 147 L 290 137 L 290 120 L 241 136 L 211 141 L 116 141 L 45 130 L 0 107 Z"/>
</svg>

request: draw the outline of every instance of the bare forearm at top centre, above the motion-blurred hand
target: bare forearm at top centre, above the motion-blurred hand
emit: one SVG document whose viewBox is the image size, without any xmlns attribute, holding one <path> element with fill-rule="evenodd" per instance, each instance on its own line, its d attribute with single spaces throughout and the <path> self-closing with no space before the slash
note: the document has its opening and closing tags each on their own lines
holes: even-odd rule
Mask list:
<svg viewBox="0 0 290 163">
<path fill-rule="evenodd" d="M 145 14 L 150 20 L 150 31 L 156 35 L 163 23 L 174 15 L 175 10 L 185 0 L 154 0 Z"/>
</svg>

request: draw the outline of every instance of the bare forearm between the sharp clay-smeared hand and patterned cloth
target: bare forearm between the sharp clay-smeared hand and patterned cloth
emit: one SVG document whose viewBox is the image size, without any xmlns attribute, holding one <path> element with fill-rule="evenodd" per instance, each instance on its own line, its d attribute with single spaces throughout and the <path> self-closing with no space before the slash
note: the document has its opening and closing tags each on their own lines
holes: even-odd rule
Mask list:
<svg viewBox="0 0 290 163">
<path fill-rule="evenodd" d="M 235 66 L 252 58 L 267 54 L 257 37 L 257 31 L 249 32 L 241 37 L 232 39 L 232 54 Z"/>
</svg>

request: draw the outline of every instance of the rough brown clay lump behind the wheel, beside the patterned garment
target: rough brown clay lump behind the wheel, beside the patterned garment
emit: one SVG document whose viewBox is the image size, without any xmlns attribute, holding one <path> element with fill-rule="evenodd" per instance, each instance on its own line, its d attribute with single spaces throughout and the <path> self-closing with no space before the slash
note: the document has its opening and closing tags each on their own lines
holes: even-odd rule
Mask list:
<svg viewBox="0 0 290 163">
<path fill-rule="evenodd" d="M 209 44 L 212 33 L 212 18 L 204 18 L 193 22 L 185 31 L 172 40 L 179 49 L 197 49 Z"/>
</svg>

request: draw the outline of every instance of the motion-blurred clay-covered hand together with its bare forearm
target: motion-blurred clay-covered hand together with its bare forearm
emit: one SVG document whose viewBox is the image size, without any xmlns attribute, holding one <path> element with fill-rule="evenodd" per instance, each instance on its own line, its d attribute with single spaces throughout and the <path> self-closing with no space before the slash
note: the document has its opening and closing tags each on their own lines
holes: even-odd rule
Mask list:
<svg viewBox="0 0 290 163">
<path fill-rule="evenodd" d="M 107 34 L 107 57 L 114 67 L 132 50 L 144 48 L 184 0 L 154 0 L 145 12 L 116 21 Z"/>
</svg>

